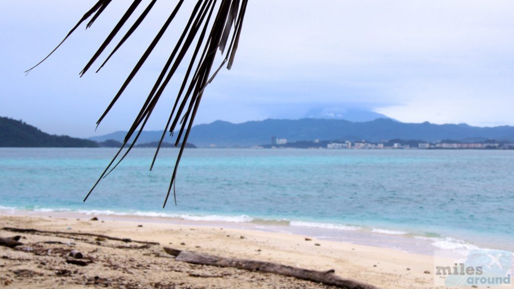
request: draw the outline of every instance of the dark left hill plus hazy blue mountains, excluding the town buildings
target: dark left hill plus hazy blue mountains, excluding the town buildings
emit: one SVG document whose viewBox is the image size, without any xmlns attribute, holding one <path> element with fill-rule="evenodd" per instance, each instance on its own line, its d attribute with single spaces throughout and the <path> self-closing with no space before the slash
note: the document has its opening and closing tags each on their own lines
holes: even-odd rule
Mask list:
<svg viewBox="0 0 514 289">
<path fill-rule="evenodd" d="M 126 132 L 118 131 L 89 139 L 50 135 L 21 120 L 0 117 L 0 147 L 118 147 Z M 154 147 L 161 131 L 143 131 L 137 145 Z M 188 142 L 197 147 L 251 147 L 270 145 L 271 138 L 293 141 L 361 141 L 387 142 L 392 139 L 437 142 L 452 139 L 463 142 L 496 139 L 514 141 L 514 127 L 472 127 L 467 124 L 402 123 L 379 118 L 352 122 L 342 119 L 299 120 L 267 119 L 230 123 L 214 121 L 195 125 Z M 173 143 L 167 134 L 164 142 Z M 110 145 L 109 145 L 110 143 Z M 142 144 L 142 145 L 141 145 Z M 189 147 L 194 147 L 189 145 Z M 166 146 L 166 144 L 165 144 Z"/>
</svg>

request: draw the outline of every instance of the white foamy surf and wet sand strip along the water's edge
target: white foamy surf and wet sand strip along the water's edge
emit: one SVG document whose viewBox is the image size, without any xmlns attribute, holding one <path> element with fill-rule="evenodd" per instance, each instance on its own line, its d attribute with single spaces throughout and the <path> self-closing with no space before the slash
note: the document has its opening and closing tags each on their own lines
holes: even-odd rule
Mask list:
<svg viewBox="0 0 514 289">
<path fill-rule="evenodd" d="M 130 221 L 156 224 L 176 224 L 201 227 L 224 227 L 242 230 L 286 233 L 306 236 L 326 241 L 335 241 L 364 246 L 395 249 L 412 254 L 433 256 L 435 250 L 445 249 L 488 249 L 474 243 L 453 237 L 436 234 L 421 236 L 407 231 L 390 230 L 374 227 L 339 225 L 329 223 L 302 222 L 289 220 L 262 220 L 250 216 L 224 215 L 187 215 L 159 214 L 152 212 L 123 213 L 108 210 L 74 211 L 68 209 L 34 209 L 23 210 L 0 207 L 0 215 L 14 216 L 52 216 L 57 218 L 72 218 L 87 220 L 98 216 L 103 220 Z M 495 248 L 505 249 L 505 248 Z M 508 249 L 507 249 L 508 250 Z"/>
</svg>

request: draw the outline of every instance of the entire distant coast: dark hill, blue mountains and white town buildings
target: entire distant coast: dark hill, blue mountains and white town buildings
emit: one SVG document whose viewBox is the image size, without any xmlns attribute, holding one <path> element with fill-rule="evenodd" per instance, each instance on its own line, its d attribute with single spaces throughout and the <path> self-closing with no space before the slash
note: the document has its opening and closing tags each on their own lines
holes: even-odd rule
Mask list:
<svg viewBox="0 0 514 289">
<path fill-rule="evenodd" d="M 125 136 L 123 131 L 89 139 L 50 135 L 22 120 L 0 117 L 0 147 L 120 148 Z M 143 131 L 134 148 L 157 148 L 161 136 L 161 131 Z M 195 125 L 189 141 L 186 148 L 503 150 L 514 149 L 514 127 L 401 123 L 391 119 L 268 119 L 239 124 L 215 121 Z M 175 147 L 175 140 L 166 135 L 161 148 Z"/>
</svg>

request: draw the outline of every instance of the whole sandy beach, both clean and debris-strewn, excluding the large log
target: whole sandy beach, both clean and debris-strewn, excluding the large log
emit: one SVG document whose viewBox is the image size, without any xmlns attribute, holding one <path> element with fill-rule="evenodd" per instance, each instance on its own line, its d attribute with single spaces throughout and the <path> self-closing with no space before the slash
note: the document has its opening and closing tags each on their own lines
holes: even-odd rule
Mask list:
<svg viewBox="0 0 514 289">
<path fill-rule="evenodd" d="M 432 288 L 433 257 L 325 240 L 309 236 L 240 230 L 219 224 L 174 224 L 130 221 L 98 216 L 0 215 L 1 227 L 63 232 L 88 232 L 138 241 L 142 244 L 95 237 L 15 233 L 0 230 L 0 237 L 23 236 L 15 249 L 0 246 L 0 287 L 6 288 L 329 288 L 318 283 L 235 268 L 193 265 L 175 261 L 162 247 L 206 254 L 270 261 L 306 269 L 335 269 L 336 275 L 381 288 Z M 141 226 L 142 225 L 142 226 Z M 57 241 L 60 243 L 43 243 Z M 319 245 L 315 245 L 319 244 Z M 76 249 L 92 263 L 66 263 Z M 166 256 L 166 257 L 162 257 Z"/>
</svg>

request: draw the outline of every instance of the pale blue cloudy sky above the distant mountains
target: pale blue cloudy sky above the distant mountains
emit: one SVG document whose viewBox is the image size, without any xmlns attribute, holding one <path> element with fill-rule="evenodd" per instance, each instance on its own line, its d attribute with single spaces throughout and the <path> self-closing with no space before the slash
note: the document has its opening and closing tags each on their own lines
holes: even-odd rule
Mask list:
<svg viewBox="0 0 514 289">
<path fill-rule="evenodd" d="M 79 78 L 128 1 L 113 1 L 26 76 L 95 2 L 0 0 L 0 116 L 75 137 L 130 128 L 195 1 L 186 0 L 97 131 L 97 119 L 176 2 L 158 1 L 98 74 L 99 63 Z M 510 0 L 250 0 L 234 65 L 206 88 L 195 124 L 358 109 L 402 122 L 514 125 L 512 15 Z M 178 81 L 147 130 L 163 129 Z"/>
</svg>

